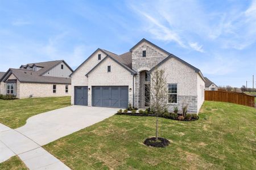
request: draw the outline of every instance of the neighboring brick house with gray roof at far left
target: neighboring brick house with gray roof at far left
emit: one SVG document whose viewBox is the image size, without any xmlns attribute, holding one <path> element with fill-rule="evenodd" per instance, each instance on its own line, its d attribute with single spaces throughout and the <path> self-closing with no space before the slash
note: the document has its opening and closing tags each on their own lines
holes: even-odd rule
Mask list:
<svg viewBox="0 0 256 170">
<path fill-rule="evenodd" d="M 71 95 L 71 67 L 64 60 L 29 63 L 9 69 L 0 79 L 3 95 L 53 97 Z"/>
</svg>

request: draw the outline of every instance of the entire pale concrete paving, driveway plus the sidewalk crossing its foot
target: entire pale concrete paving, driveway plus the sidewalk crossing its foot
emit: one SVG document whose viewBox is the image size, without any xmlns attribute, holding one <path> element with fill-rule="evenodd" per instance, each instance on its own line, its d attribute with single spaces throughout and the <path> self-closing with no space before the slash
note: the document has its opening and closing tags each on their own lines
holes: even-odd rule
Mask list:
<svg viewBox="0 0 256 170">
<path fill-rule="evenodd" d="M 96 124 L 117 110 L 74 105 L 37 114 L 17 129 L 0 124 L 0 163 L 18 155 L 29 169 L 69 169 L 41 146 Z"/>
</svg>

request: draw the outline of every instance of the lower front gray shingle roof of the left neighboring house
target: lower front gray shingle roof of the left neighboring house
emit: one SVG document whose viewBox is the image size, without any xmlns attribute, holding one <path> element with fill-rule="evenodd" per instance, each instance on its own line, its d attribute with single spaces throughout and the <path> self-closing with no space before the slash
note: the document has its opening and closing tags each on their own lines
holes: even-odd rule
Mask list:
<svg viewBox="0 0 256 170">
<path fill-rule="evenodd" d="M 9 69 L 2 81 L 5 82 L 6 79 L 13 74 L 19 82 L 25 83 L 56 83 L 56 84 L 71 84 L 71 78 L 60 78 L 53 76 L 41 76 L 39 71 L 29 71 L 24 69 Z"/>
</svg>

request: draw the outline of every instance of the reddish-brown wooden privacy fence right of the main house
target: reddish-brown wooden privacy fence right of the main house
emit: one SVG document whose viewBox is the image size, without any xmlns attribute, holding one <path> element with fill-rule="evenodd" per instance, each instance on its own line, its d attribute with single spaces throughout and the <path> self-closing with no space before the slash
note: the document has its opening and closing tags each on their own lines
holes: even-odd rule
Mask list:
<svg viewBox="0 0 256 170">
<path fill-rule="evenodd" d="M 229 91 L 204 91 L 205 100 L 223 101 L 254 107 L 254 96 Z"/>
</svg>

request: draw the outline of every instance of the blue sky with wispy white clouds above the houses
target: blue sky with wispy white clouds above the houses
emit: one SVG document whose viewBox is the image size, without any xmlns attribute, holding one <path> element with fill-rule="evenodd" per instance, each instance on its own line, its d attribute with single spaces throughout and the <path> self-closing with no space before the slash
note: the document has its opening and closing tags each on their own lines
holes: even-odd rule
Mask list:
<svg viewBox="0 0 256 170">
<path fill-rule="evenodd" d="M 121 54 L 142 38 L 217 85 L 256 76 L 256 0 L 0 0 L 0 71 L 56 59 L 76 69 L 97 48 Z"/>
</svg>

